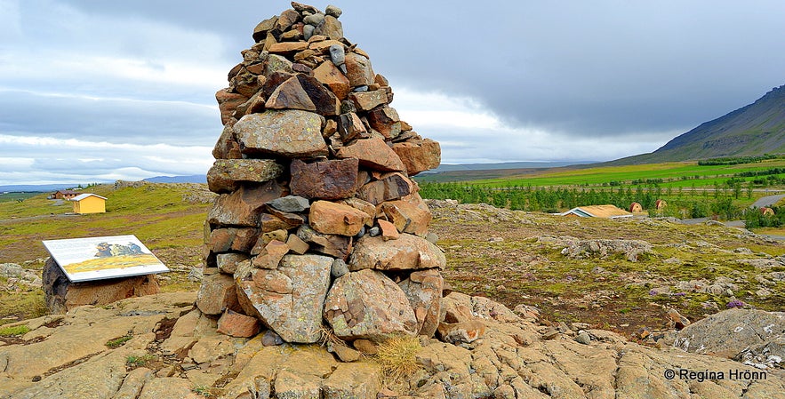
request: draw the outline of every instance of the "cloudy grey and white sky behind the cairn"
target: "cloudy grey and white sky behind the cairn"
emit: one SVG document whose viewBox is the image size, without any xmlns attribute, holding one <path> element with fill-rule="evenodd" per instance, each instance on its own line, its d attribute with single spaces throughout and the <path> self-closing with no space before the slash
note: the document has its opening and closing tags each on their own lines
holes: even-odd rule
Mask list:
<svg viewBox="0 0 785 399">
<path fill-rule="evenodd" d="M 651 152 L 785 84 L 781 0 L 334 4 L 445 164 Z M 289 7 L 0 0 L 0 185 L 205 173 L 214 93 Z"/>
</svg>

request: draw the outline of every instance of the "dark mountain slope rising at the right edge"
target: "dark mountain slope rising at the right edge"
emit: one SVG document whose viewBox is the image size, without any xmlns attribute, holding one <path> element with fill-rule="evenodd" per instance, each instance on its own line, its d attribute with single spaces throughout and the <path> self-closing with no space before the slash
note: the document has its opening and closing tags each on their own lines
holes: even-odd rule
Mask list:
<svg viewBox="0 0 785 399">
<path fill-rule="evenodd" d="M 785 85 L 746 107 L 701 124 L 653 153 L 605 164 L 657 164 L 779 153 L 785 153 Z"/>
</svg>

